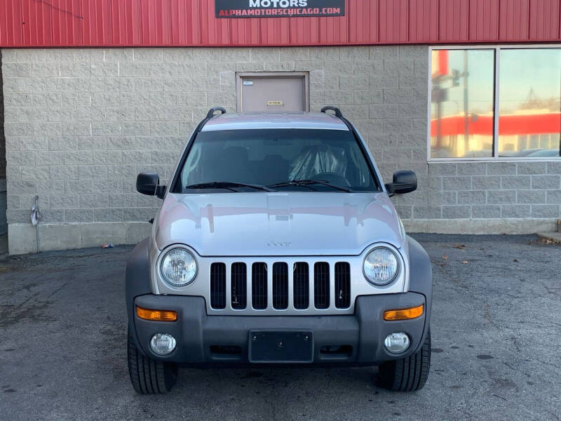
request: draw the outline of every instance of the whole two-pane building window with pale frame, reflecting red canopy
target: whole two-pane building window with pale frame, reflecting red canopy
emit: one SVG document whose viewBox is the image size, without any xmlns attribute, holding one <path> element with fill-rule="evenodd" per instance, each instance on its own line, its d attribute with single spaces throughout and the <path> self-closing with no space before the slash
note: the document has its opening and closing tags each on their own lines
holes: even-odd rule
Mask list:
<svg viewBox="0 0 561 421">
<path fill-rule="evenodd" d="M 561 48 L 434 48 L 431 81 L 431 159 L 561 155 Z"/>
</svg>

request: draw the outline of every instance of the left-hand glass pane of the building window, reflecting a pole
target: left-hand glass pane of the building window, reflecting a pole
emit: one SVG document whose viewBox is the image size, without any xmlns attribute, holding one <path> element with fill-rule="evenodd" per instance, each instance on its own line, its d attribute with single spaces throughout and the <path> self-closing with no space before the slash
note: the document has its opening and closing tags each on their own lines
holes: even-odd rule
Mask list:
<svg viewBox="0 0 561 421">
<path fill-rule="evenodd" d="M 433 50 L 431 156 L 493 156 L 493 50 Z"/>
</svg>

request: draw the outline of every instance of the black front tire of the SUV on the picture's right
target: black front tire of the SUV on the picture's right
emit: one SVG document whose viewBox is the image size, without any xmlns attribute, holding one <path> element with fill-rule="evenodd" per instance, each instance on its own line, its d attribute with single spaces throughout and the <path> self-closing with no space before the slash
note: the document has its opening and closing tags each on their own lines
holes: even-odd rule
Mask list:
<svg viewBox="0 0 561 421">
<path fill-rule="evenodd" d="M 388 361 L 379 366 L 382 384 L 394 392 L 421 390 L 431 368 L 431 330 L 419 352 L 404 359 Z"/>
</svg>

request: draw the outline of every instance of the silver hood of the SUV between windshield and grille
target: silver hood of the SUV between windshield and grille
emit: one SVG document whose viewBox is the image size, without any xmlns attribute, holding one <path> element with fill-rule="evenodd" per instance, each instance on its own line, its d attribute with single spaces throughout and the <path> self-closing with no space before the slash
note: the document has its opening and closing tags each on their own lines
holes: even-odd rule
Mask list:
<svg viewBox="0 0 561 421">
<path fill-rule="evenodd" d="M 405 241 L 385 193 L 168 194 L 154 224 L 159 249 L 201 256 L 358 255 Z"/>
</svg>

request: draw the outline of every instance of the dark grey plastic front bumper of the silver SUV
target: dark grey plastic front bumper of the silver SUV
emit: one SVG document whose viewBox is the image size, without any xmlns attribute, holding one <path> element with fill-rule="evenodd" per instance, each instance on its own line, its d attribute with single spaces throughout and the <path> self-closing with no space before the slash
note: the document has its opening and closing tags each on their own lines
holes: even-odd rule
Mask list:
<svg viewBox="0 0 561 421">
<path fill-rule="evenodd" d="M 384 321 L 387 309 L 425 305 L 417 319 Z M 159 361 L 204 365 L 248 363 L 249 333 L 252 330 L 284 330 L 313 333 L 313 363 L 377 365 L 409 356 L 419 349 L 426 331 L 426 298 L 420 293 L 363 295 L 356 299 L 355 314 L 345 316 L 208 316 L 204 298 L 184 295 L 140 295 L 135 305 L 177 312 L 174 322 L 147 321 L 134 316 L 131 332 L 137 347 Z M 389 354 L 384 338 L 405 332 L 411 345 L 399 355 Z M 167 356 L 151 352 L 155 333 L 170 333 L 176 349 Z"/>
</svg>

